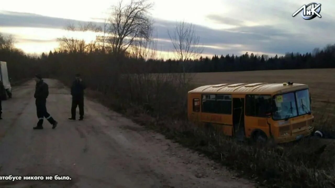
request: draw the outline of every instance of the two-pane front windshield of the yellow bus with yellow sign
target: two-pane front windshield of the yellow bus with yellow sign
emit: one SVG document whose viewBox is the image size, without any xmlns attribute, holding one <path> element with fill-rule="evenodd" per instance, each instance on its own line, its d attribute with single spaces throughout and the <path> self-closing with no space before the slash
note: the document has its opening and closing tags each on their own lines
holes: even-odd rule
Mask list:
<svg viewBox="0 0 335 188">
<path fill-rule="evenodd" d="M 308 89 L 275 95 L 274 120 L 287 119 L 311 112 Z"/>
</svg>

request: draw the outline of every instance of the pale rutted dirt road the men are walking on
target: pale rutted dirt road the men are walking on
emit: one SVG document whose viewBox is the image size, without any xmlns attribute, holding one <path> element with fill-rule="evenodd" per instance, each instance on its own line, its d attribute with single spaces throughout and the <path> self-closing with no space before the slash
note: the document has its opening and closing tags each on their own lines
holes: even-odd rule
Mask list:
<svg viewBox="0 0 335 188">
<path fill-rule="evenodd" d="M 84 121 L 70 121 L 69 89 L 56 80 L 45 82 L 47 109 L 59 124 L 52 129 L 44 120 L 43 130 L 33 130 L 38 121 L 35 83 L 13 88 L 0 120 L 0 175 L 71 180 L 0 180 L 0 187 L 255 187 L 90 100 L 85 99 Z"/>
</svg>

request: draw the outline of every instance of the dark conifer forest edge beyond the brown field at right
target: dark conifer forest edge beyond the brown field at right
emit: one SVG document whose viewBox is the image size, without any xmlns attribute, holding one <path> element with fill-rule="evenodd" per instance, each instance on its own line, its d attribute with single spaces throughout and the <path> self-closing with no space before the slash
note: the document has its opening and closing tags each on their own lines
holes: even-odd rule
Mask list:
<svg viewBox="0 0 335 188">
<path fill-rule="evenodd" d="M 183 72 L 183 65 L 186 72 L 233 72 L 233 71 L 257 71 L 257 70 L 283 70 L 283 69 L 319 69 L 335 68 L 335 44 L 328 45 L 322 50 L 315 49 L 313 53 L 286 53 L 285 56 L 264 58 L 248 54 L 241 56 L 234 55 L 214 55 L 212 58 L 200 57 L 197 60 L 177 60 L 157 61 L 149 60 L 152 64 L 161 64 L 161 69 L 153 72 Z"/>
</svg>

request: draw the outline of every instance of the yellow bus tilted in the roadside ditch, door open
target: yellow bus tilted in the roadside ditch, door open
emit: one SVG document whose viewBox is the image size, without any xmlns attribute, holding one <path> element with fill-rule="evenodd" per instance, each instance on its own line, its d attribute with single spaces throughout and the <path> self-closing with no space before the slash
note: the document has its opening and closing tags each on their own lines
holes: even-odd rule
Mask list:
<svg viewBox="0 0 335 188">
<path fill-rule="evenodd" d="M 225 135 L 256 142 L 291 142 L 313 132 L 308 85 L 237 83 L 206 85 L 188 92 L 188 118 Z"/>
</svg>

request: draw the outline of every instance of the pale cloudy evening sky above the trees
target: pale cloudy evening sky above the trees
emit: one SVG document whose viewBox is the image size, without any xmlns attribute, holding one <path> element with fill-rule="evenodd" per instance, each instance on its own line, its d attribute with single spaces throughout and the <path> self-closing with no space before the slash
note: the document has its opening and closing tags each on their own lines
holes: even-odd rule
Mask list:
<svg viewBox="0 0 335 188">
<path fill-rule="evenodd" d="M 57 48 L 57 37 L 68 35 L 64 27 L 78 21 L 99 22 L 108 17 L 114 0 L 11 0 L 0 6 L 0 33 L 12 34 L 17 48 L 26 53 L 49 52 Z M 128 1 L 125 0 L 124 3 Z M 322 0 L 321 16 L 305 20 L 292 14 L 304 0 L 154 0 L 151 16 L 154 19 L 157 49 L 169 56 L 173 46 L 167 30 L 176 21 L 196 25 L 204 55 L 275 54 L 312 52 L 335 43 L 335 1 Z M 73 35 L 73 33 L 72 33 Z M 74 33 L 90 41 L 95 33 Z"/>
</svg>

